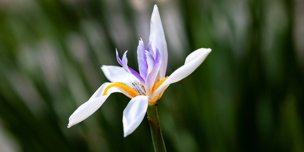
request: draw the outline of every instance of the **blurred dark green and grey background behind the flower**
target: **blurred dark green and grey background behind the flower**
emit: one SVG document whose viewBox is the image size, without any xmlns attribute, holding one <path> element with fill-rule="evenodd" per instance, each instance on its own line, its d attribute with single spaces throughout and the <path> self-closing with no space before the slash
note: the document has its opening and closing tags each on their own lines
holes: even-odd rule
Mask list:
<svg viewBox="0 0 304 152">
<path fill-rule="evenodd" d="M 0 151 L 154 151 L 146 119 L 123 137 L 119 93 L 67 128 L 115 48 L 137 69 L 154 4 L 167 75 L 212 48 L 158 101 L 168 151 L 304 151 L 302 0 L 0 0 Z"/>
</svg>

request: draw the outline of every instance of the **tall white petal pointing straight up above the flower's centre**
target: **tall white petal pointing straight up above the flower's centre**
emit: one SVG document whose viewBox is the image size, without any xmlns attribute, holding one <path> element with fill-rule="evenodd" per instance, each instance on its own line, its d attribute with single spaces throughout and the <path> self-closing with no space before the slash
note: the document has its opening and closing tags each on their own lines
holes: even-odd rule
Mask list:
<svg viewBox="0 0 304 152">
<path fill-rule="evenodd" d="M 150 42 L 152 43 L 151 46 L 152 50 L 154 51 L 153 56 L 155 56 L 156 48 L 161 53 L 160 78 L 164 78 L 168 63 L 168 51 L 164 35 L 164 29 L 161 24 L 161 17 L 159 15 L 157 5 L 154 5 L 154 9 L 151 16 Z"/>
</svg>

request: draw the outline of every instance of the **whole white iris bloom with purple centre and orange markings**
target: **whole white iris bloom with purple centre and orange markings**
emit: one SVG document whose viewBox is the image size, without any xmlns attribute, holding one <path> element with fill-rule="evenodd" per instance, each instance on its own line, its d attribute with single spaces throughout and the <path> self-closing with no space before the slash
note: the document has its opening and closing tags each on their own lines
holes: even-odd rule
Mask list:
<svg viewBox="0 0 304 152">
<path fill-rule="evenodd" d="M 131 100 L 123 111 L 124 137 L 132 133 L 142 122 L 148 105 L 153 105 L 161 98 L 166 88 L 191 74 L 202 62 L 211 49 L 200 48 L 195 50 L 185 60 L 185 64 L 165 77 L 167 68 L 167 44 L 161 24 L 158 8 L 154 5 L 151 16 L 150 42 L 147 49 L 143 40 L 137 47 L 139 73 L 128 67 L 126 53 L 122 59 L 116 50 L 116 58 L 122 67 L 101 67 L 106 82 L 97 89 L 92 97 L 82 104 L 69 118 L 68 128 L 92 115 L 113 92 L 121 92 Z"/>
</svg>

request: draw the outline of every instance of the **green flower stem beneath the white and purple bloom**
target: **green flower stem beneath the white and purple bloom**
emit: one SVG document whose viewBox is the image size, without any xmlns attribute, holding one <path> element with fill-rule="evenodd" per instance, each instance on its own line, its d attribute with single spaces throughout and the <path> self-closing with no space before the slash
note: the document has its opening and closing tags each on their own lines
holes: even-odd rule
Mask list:
<svg viewBox="0 0 304 152">
<path fill-rule="evenodd" d="M 154 150 L 156 152 L 165 152 L 166 147 L 165 147 L 163 135 L 161 134 L 161 126 L 159 124 L 157 106 L 155 104 L 153 105 L 149 104 L 147 109 L 147 115 L 150 124 Z"/>
</svg>

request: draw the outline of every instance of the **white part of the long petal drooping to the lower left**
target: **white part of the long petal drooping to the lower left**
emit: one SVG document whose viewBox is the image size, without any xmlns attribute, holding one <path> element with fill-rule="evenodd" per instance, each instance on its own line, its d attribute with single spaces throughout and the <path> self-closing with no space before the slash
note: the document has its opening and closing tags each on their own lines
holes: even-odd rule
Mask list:
<svg viewBox="0 0 304 152">
<path fill-rule="evenodd" d="M 88 116 L 91 116 L 98 108 L 100 108 L 100 106 L 105 102 L 111 93 L 121 92 L 113 87 L 107 91 L 107 95 L 103 95 L 105 88 L 111 84 L 112 83 L 109 82 L 102 84 L 87 102 L 78 107 L 78 109 L 76 109 L 70 116 L 69 124 L 67 127 L 70 128 L 71 126 L 74 126 L 75 124 L 80 123 L 82 120 L 88 118 Z"/>
</svg>

